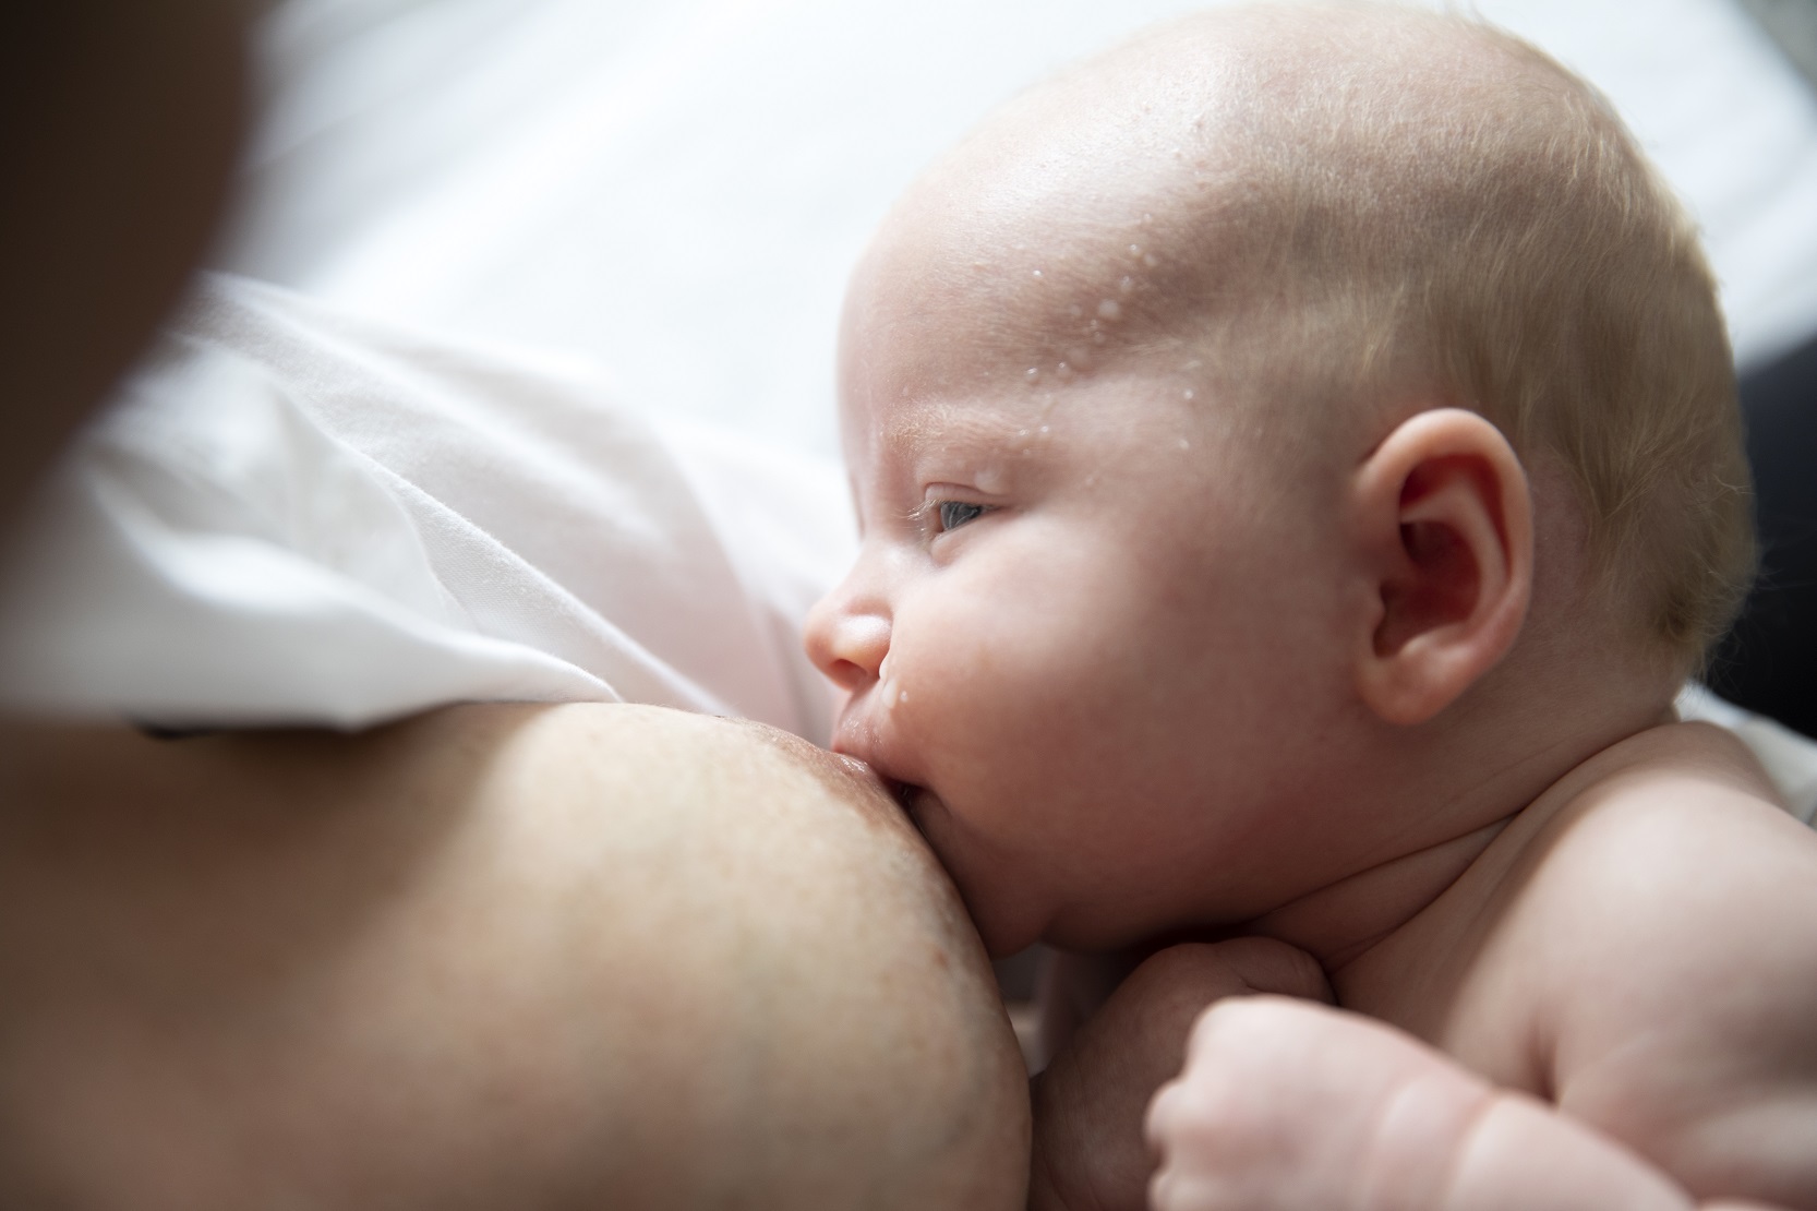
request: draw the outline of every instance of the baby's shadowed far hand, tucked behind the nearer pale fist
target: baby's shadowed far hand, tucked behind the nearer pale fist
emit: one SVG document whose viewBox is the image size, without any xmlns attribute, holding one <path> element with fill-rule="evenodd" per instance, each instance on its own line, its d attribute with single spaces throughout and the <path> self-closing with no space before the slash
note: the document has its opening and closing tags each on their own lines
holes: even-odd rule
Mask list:
<svg viewBox="0 0 1817 1211">
<path fill-rule="evenodd" d="M 1270 938 L 1172 946 L 1136 967 L 1034 1082 L 1030 1211 L 1147 1207 L 1148 1098 L 1205 1006 L 1257 991 L 1330 1000 L 1317 962 Z"/>
</svg>

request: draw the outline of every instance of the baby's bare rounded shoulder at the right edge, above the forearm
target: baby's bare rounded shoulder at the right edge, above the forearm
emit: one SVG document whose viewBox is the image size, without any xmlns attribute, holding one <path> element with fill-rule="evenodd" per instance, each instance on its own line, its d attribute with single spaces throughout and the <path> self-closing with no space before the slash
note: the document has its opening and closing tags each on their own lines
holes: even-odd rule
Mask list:
<svg viewBox="0 0 1817 1211">
<path fill-rule="evenodd" d="M 1817 833 L 1708 724 L 1624 740 L 1555 789 L 1504 924 L 1557 1102 L 1693 1171 L 1793 1106 L 1817 1127 Z"/>
</svg>

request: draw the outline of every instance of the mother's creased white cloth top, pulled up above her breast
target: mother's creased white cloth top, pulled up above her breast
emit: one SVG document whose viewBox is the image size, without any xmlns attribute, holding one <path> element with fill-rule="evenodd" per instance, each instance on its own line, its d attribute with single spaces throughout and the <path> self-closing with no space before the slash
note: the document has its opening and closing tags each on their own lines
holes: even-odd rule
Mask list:
<svg viewBox="0 0 1817 1211">
<path fill-rule="evenodd" d="M 0 702 L 356 727 L 634 700 L 825 738 L 798 633 L 845 516 L 830 464 L 209 280 L 25 531 Z"/>
</svg>

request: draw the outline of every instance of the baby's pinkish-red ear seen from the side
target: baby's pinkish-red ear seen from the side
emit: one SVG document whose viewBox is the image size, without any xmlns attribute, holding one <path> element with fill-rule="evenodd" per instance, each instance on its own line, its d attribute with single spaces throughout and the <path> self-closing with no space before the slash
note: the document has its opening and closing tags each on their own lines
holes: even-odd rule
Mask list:
<svg viewBox="0 0 1817 1211">
<path fill-rule="evenodd" d="M 1368 576 L 1355 682 L 1392 724 L 1423 724 L 1514 644 L 1534 582 L 1526 475 L 1490 422 L 1419 413 L 1352 480 Z"/>
</svg>

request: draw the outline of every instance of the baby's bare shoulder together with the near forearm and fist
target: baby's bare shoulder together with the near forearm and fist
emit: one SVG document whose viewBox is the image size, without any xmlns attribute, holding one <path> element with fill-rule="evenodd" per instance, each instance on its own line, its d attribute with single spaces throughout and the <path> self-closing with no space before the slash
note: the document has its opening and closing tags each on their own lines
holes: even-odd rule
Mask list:
<svg viewBox="0 0 1817 1211">
<path fill-rule="evenodd" d="M 1817 1206 L 1817 836 L 1732 736 L 1606 749 L 1361 949 L 1299 907 L 1348 1013 L 1205 1015 L 1150 1206 Z"/>
</svg>

